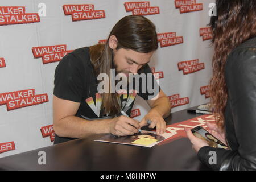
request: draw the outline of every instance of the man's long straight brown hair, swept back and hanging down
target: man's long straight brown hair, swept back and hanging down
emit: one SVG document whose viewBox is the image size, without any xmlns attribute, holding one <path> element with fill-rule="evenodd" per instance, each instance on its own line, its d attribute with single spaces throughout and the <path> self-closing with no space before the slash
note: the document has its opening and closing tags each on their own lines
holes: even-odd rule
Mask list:
<svg viewBox="0 0 256 182">
<path fill-rule="evenodd" d="M 114 68 L 113 50 L 109 47 L 109 38 L 112 35 L 118 40 L 117 50 L 124 48 L 149 53 L 158 49 L 155 25 L 143 16 L 125 16 L 115 24 L 106 44 L 90 47 L 90 59 L 96 75 L 106 73 L 110 78 L 110 69 Z M 120 113 L 121 103 L 117 93 L 102 93 L 101 96 L 101 108 L 105 114 L 114 117 Z"/>
</svg>

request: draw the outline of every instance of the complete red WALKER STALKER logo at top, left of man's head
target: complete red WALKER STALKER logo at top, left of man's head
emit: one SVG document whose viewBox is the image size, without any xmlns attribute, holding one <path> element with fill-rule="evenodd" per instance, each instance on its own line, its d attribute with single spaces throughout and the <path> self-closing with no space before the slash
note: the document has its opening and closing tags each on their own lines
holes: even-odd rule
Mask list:
<svg viewBox="0 0 256 182">
<path fill-rule="evenodd" d="M 94 10 L 94 5 L 63 5 L 65 15 L 71 15 L 72 21 L 106 18 L 104 10 Z"/>
</svg>

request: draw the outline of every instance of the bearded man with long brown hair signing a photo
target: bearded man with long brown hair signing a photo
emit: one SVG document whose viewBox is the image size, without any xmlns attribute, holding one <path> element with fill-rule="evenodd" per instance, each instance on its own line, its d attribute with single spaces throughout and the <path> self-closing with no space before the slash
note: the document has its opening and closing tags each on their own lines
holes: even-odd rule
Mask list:
<svg viewBox="0 0 256 182">
<path fill-rule="evenodd" d="M 63 57 L 55 71 L 53 91 L 55 144 L 98 133 L 133 135 L 148 125 L 147 121 L 151 121 L 149 127 L 156 127 L 157 134 L 163 134 L 163 117 L 170 114 L 171 106 L 148 66 L 157 48 L 154 24 L 143 16 L 126 16 L 115 24 L 105 44 L 79 48 Z M 124 89 L 126 85 L 121 86 L 121 92 L 111 92 L 112 82 L 104 79 L 105 92 L 101 92 L 99 75 L 111 78 L 113 71 L 114 76 L 138 73 L 147 77 L 132 92 Z M 150 85 L 156 92 L 148 91 Z M 140 92 L 143 86 L 147 90 Z M 137 93 L 151 107 L 141 122 L 120 115 L 130 115 Z"/>
</svg>

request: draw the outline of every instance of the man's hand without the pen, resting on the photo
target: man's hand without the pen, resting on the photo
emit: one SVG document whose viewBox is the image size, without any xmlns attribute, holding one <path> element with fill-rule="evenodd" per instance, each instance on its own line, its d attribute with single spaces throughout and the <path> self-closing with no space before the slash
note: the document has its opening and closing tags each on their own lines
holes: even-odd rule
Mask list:
<svg viewBox="0 0 256 182">
<path fill-rule="evenodd" d="M 149 128 L 153 129 L 156 126 L 156 134 L 163 134 L 166 131 L 166 122 L 157 110 L 151 109 L 139 123 L 139 126 L 143 127 L 148 125 L 148 119 L 151 121 Z"/>
</svg>

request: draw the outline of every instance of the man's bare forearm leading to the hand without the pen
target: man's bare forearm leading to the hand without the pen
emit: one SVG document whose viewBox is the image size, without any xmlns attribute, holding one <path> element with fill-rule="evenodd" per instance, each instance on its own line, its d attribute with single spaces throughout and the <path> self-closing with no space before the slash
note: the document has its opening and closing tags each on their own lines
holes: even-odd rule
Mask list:
<svg viewBox="0 0 256 182">
<path fill-rule="evenodd" d="M 152 105 L 151 110 L 156 110 L 162 115 L 163 118 L 166 118 L 170 115 L 171 104 L 167 97 L 160 97 L 155 100 L 154 105 Z"/>
</svg>

